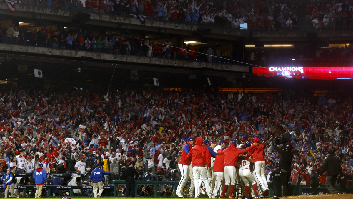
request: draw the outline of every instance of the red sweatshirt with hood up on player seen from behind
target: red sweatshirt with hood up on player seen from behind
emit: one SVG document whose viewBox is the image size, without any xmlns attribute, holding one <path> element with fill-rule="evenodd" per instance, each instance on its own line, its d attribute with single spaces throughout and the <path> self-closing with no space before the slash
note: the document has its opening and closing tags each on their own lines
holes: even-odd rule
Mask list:
<svg viewBox="0 0 353 199">
<path fill-rule="evenodd" d="M 187 159 L 192 161 L 192 166 L 205 166 L 206 163 L 206 150 L 207 148 L 202 145 L 203 138 L 197 137 L 196 144 L 187 154 Z"/>
</svg>

